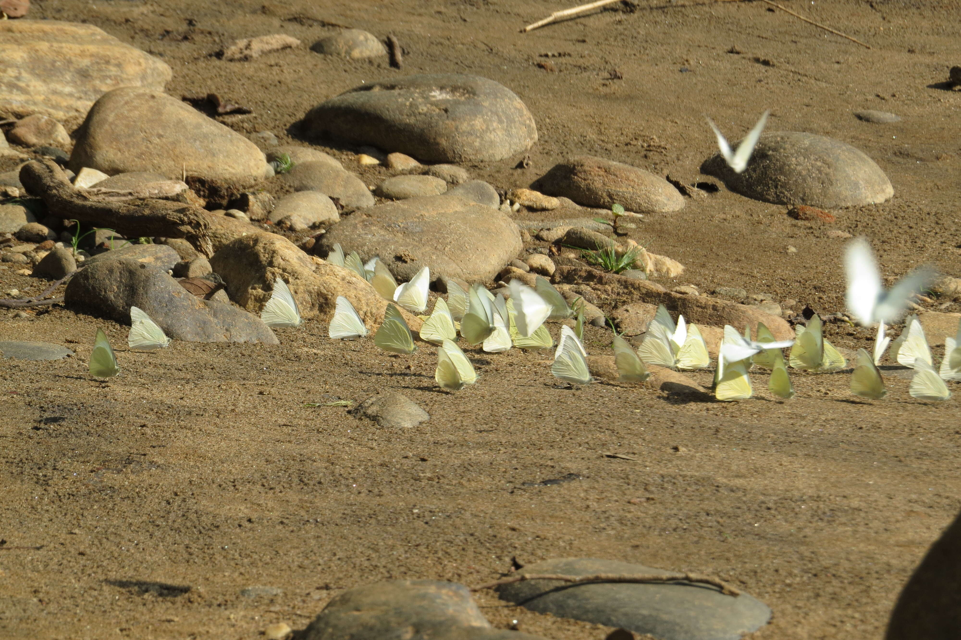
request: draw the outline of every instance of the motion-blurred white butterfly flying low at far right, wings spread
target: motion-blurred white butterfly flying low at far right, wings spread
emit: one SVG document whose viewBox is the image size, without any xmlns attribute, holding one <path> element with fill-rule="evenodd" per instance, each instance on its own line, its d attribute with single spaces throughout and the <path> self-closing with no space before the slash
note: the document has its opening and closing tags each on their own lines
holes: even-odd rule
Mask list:
<svg viewBox="0 0 961 640">
<path fill-rule="evenodd" d="M 863 237 L 850 241 L 845 250 L 844 263 L 848 276 L 845 301 L 848 310 L 862 325 L 897 321 L 907 307 L 908 299 L 918 293 L 933 275 L 927 269 L 918 269 L 885 291 L 875 255 Z"/>
</svg>

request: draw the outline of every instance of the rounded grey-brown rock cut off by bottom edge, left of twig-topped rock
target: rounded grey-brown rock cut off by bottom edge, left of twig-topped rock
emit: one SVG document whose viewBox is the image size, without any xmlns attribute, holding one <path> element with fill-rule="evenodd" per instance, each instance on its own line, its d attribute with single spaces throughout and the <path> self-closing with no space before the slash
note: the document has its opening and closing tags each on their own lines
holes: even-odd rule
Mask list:
<svg viewBox="0 0 961 640">
<path fill-rule="evenodd" d="M 456 582 L 388 580 L 334 598 L 303 640 L 534 640 L 492 628 L 470 591 Z"/>
</svg>

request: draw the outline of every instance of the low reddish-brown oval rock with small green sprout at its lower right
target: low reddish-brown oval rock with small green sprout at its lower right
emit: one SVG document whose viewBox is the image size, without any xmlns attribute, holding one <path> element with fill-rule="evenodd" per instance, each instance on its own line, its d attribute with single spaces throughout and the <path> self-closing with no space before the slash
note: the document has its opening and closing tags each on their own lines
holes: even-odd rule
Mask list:
<svg viewBox="0 0 961 640">
<path fill-rule="evenodd" d="M 638 213 L 671 213 L 684 208 L 677 188 L 650 171 L 594 156 L 555 164 L 530 188 L 564 196 L 584 207 L 621 205 Z"/>
</svg>

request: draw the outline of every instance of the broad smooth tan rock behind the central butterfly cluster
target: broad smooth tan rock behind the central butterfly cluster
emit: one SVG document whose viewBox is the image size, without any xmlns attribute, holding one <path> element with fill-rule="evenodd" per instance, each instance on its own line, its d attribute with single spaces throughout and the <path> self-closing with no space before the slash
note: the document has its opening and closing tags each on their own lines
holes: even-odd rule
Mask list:
<svg viewBox="0 0 961 640">
<path fill-rule="evenodd" d="M 523 247 L 517 225 L 504 213 L 449 195 L 363 209 L 320 240 L 326 251 L 335 242 L 364 260 L 380 256 L 399 280 L 429 266 L 431 278 L 471 283 L 493 279 Z"/>
</svg>

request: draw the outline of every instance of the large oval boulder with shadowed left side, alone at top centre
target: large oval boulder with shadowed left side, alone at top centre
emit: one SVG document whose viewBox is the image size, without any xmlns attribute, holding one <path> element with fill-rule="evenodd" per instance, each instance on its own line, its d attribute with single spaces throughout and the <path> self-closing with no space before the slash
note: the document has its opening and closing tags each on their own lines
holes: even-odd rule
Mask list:
<svg viewBox="0 0 961 640">
<path fill-rule="evenodd" d="M 304 125 L 307 135 L 428 162 L 504 160 L 537 141 L 533 116 L 510 89 L 456 73 L 357 86 L 310 110 Z"/>
</svg>

